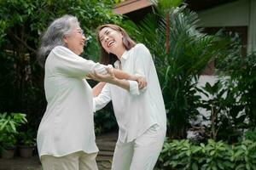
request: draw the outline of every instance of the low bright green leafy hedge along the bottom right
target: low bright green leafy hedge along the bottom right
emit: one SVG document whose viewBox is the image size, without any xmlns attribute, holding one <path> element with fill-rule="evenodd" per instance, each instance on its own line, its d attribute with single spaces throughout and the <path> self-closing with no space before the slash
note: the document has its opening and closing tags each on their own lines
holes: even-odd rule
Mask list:
<svg viewBox="0 0 256 170">
<path fill-rule="evenodd" d="M 207 144 L 193 144 L 187 139 L 166 140 L 158 165 L 168 170 L 256 169 L 256 142 L 243 140 L 230 145 L 212 139 Z"/>
</svg>

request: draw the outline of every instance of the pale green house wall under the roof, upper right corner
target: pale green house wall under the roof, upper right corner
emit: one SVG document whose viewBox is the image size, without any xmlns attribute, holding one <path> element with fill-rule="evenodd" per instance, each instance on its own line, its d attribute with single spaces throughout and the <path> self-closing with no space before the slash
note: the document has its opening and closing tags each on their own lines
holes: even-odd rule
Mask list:
<svg viewBox="0 0 256 170">
<path fill-rule="evenodd" d="M 201 27 L 247 26 L 247 53 L 256 51 L 256 0 L 238 0 L 198 12 Z"/>
</svg>

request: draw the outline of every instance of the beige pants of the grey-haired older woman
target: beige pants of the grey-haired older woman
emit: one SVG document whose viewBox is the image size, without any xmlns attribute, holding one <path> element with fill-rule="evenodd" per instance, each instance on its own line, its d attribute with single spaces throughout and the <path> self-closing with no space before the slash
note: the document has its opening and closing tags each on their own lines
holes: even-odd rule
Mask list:
<svg viewBox="0 0 256 170">
<path fill-rule="evenodd" d="M 43 170 L 97 170 L 97 153 L 74 152 L 67 156 L 42 156 Z"/>
</svg>

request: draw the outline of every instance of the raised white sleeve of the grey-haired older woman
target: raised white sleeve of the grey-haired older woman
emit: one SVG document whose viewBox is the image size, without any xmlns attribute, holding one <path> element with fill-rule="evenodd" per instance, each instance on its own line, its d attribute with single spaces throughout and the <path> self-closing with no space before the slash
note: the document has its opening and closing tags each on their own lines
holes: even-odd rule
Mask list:
<svg viewBox="0 0 256 170">
<path fill-rule="evenodd" d="M 59 74 L 69 77 L 85 77 L 94 71 L 100 74 L 107 74 L 107 65 L 84 59 L 68 48 L 57 46 L 52 50 L 52 53 L 56 59 L 55 65 Z"/>
</svg>

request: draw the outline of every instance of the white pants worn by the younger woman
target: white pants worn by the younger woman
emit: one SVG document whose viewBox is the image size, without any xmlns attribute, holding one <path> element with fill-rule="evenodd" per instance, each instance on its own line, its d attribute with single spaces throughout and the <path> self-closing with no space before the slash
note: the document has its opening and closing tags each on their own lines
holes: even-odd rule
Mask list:
<svg viewBox="0 0 256 170">
<path fill-rule="evenodd" d="M 132 142 L 119 139 L 113 154 L 112 170 L 152 170 L 164 144 L 166 132 L 158 126 L 150 127 Z"/>
</svg>

